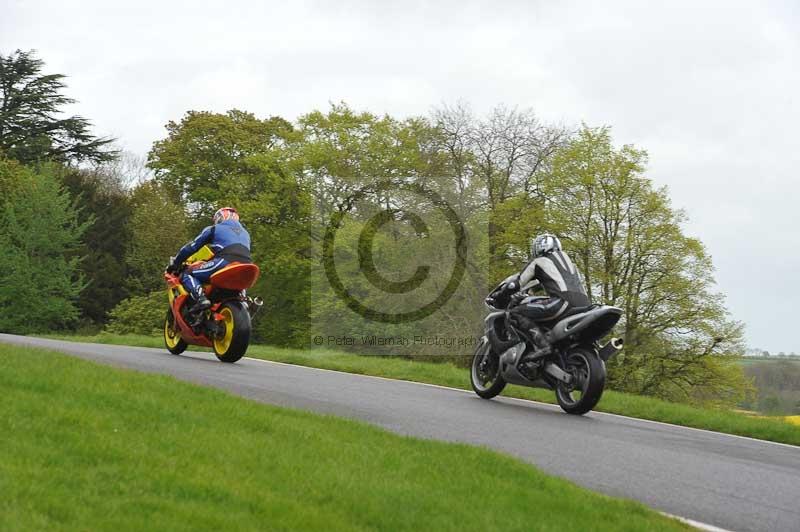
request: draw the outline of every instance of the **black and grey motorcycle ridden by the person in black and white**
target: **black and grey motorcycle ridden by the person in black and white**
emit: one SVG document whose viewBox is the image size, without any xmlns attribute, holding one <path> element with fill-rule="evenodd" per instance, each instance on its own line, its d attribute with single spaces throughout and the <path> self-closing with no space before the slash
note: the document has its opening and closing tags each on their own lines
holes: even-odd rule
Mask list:
<svg viewBox="0 0 800 532">
<path fill-rule="evenodd" d="M 585 414 L 603 395 L 606 361 L 622 349 L 617 338 L 603 347 L 598 344 L 617 324 L 622 310 L 606 305 L 573 307 L 551 322 L 533 324 L 509 312 L 510 298 L 503 296 L 534 288 L 520 288 L 518 283 L 518 275 L 508 277 L 486 298 L 490 312 L 472 358 L 472 389 L 491 399 L 507 383 L 546 388 L 555 391 L 565 412 Z M 536 336 L 531 330 L 535 326 Z"/>
</svg>

